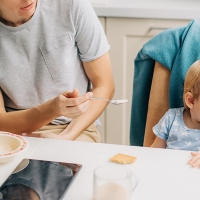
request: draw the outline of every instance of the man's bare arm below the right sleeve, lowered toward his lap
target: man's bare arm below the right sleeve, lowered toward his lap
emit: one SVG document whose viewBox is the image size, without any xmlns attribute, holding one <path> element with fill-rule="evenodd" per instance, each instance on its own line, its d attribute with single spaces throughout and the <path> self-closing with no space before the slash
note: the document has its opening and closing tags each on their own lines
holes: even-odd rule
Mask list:
<svg viewBox="0 0 200 200">
<path fill-rule="evenodd" d="M 112 99 L 114 80 L 109 53 L 94 61 L 85 62 L 83 65 L 92 83 L 93 96 Z M 107 104 L 105 101 L 91 100 L 87 111 L 78 118 L 73 119 L 69 126 L 61 133 L 63 139 L 74 140 L 100 116 Z"/>
</svg>

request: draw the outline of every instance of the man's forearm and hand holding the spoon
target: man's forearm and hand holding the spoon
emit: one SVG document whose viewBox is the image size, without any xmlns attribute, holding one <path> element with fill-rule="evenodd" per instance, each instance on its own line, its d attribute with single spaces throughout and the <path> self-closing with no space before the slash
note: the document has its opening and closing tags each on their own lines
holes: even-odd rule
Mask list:
<svg viewBox="0 0 200 200">
<path fill-rule="evenodd" d="M 15 134 L 31 133 L 59 116 L 76 118 L 90 104 L 90 93 L 77 97 L 77 90 L 64 92 L 37 107 L 15 112 L 6 112 L 0 89 L 0 131 Z M 73 98 L 75 97 L 75 98 Z"/>
</svg>

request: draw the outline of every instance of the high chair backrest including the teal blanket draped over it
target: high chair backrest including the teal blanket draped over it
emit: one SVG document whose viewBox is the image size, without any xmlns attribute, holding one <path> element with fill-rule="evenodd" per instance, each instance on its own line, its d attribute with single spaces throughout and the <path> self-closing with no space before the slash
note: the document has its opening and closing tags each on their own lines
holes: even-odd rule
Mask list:
<svg viewBox="0 0 200 200">
<path fill-rule="evenodd" d="M 183 107 L 184 79 L 200 59 L 200 20 L 149 40 L 134 60 L 130 144 L 150 146 L 152 127 L 169 108 Z M 161 63 L 161 64 L 160 64 Z"/>
</svg>

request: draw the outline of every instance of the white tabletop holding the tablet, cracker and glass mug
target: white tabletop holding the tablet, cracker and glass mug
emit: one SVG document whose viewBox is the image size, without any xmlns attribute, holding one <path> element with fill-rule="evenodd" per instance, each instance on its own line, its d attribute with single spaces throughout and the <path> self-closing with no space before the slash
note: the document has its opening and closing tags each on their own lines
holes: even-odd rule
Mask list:
<svg viewBox="0 0 200 200">
<path fill-rule="evenodd" d="M 133 170 L 139 179 L 133 192 L 134 200 L 200 199 L 200 169 L 193 169 L 187 164 L 190 159 L 188 151 L 52 139 L 28 140 L 30 149 L 25 157 L 83 165 L 64 200 L 92 200 L 93 170 L 108 163 L 109 158 L 117 153 L 137 157 L 135 163 L 123 165 Z M 0 165 L 0 177 L 4 172 L 8 176 L 16 165 L 17 161 L 5 164 L 8 168 Z"/>
</svg>

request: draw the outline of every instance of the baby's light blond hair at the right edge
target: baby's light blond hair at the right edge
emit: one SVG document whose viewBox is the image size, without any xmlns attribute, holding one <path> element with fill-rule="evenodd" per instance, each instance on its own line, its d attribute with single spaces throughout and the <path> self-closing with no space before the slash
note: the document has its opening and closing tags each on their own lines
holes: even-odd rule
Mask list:
<svg viewBox="0 0 200 200">
<path fill-rule="evenodd" d="M 194 98 L 198 98 L 200 95 L 200 60 L 194 62 L 187 74 L 185 76 L 184 82 L 184 94 L 191 92 Z M 185 98 L 183 97 L 184 107 L 187 109 L 187 105 L 185 103 Z"/>
</svg>

